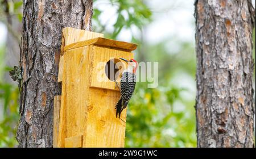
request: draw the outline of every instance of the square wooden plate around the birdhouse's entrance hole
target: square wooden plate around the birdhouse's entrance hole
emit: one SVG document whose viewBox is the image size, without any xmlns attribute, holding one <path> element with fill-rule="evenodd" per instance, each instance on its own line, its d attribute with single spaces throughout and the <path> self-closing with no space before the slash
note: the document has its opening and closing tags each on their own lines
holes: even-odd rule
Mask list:
<svg viewBox="0 0 256 159">
<path fill-rule="evenodd" d="M 90 82 L 90 86 L 98 87 L 101 89 L 110 89 L 110 90 L 119 91 L 118 87 L 115 87 L 115 82 L 110 81 L 109 78 L 106 76 L 106 73 L 105 73 L 106 63 L 110 59 L 115 58 L 116 61 L 121 62 L 122 69 L 120 70 L 120 73 L 122 73 L 122 71 L 127 68 L 127 63 L 122 60 L 119 60 L 119 58 L 120 57 L 126 58 L 126 59 L 133 58 L 133 53 L 94 46 L 90 56 L 93 57 L 92 58 L 93 65 L 91 65 L 92 80 Z M 116 81 L 120 81 L 120 78 L 117 78 Z"/>
</svg>

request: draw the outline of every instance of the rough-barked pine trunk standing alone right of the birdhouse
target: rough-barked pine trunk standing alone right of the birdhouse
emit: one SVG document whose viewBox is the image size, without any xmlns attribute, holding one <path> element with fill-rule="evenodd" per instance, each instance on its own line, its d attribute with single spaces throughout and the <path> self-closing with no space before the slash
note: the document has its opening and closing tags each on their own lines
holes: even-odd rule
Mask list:
<svg viewBox="0 0 256 159">
<path fill-rule="evenodd" d="M 254 147 L 250 0 L 195 2 L 197 146 Z"/>
</svg>

